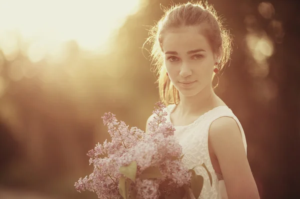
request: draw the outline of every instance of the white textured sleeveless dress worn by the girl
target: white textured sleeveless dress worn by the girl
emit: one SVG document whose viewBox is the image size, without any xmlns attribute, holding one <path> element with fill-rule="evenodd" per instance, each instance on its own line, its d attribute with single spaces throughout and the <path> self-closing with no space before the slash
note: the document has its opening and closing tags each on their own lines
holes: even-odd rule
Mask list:
<svg viewBox="0 0 300 199">
<path fill-rule="evenodd" d="M 166 122 L 171 122 L 170 113 L 175 108 L 174 104 L 170 104 L 165 108 L 167 112 Z M 151 116 L 150 116 L 151 117 Z M 242 126 L 231 109 L 227 106 L 218 106 L 214 109 L 199 116 L 193 123 L 186 126 L 174 126 L 174 136 L 178 139 L 182 146 L 182 153 L 184 157 L 182 162 L 188 169 L 192 169 L 196 165 L 205 164 L 212 177 L 212 186 L 210 186 L 209 177 L 206 170 L 202 166 L 194 168 L 197 175 L 204 178 L 201 195 L 198 199 L 227 199 L 226 189 L 222 176 L 217 174 L 210 161 L 208 153 L 208 130 L 210 124 L 220 117 L 233 118 L 240 130 L 242 142 L 246 151 L 247 144 Z"/>
</svg>

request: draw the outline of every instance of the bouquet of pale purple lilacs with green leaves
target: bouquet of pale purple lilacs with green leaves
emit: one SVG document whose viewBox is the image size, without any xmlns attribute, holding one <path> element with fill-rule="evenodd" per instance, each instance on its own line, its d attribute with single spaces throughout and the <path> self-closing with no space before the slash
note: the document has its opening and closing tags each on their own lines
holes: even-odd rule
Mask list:
<svg viewBox="0 0 300 199">
<path fill-rule="evenodd" d="M 182 148 L 174 127 L 166 123 L 165 106 L 155 103 L 148 133 L 128 129 L 115 115 L 102 117 L 111 142 L 97 144 L 88 152 L 93 172 L 75 183 L 78 192 L 95 192 L 99 199 L 192 199 L 198 198 L 203 177 L 182 162 Z M 202 165 L 208 172 L 205 165 Z M 208 172 L 208 176 L 211 176 Z"/>
</svg>

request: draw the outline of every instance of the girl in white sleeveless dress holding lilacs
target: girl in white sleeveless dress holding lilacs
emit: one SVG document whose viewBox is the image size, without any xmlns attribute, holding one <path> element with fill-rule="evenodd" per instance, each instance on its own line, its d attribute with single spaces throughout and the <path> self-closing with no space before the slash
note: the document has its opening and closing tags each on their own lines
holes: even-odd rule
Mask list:
<svg viewBox="0 0 300 199">
<path fill-rule="evenodd" d="M 242 126 L 212 88 L 231 52 L 215 10 L 201 3 L 172 6 L 150 33 L 159 94 L 185 154 L 182 161 L 188 169 L 204 163 L 212 176 L 211 186 L 205 169 L 195 168 L 204 177 L 199 198 L 259 199 Z"/>
</svg>

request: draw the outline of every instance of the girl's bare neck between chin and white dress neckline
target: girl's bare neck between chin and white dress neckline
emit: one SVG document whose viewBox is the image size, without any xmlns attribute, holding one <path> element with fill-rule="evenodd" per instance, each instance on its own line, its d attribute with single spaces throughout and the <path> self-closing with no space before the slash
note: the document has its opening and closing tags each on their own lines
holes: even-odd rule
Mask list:
<svg viewBox="0 0 300 199">
<path fill-rule="evenodd" d="M 180 102 L 177 106 L 179 115 L 201 115 L 212 108 L 219 106 L 221 100 L 214 93 L 211 86 L 205 87 L 201 92 L 192 97 L 184 97 L 179 93 Z"/>
</svg>

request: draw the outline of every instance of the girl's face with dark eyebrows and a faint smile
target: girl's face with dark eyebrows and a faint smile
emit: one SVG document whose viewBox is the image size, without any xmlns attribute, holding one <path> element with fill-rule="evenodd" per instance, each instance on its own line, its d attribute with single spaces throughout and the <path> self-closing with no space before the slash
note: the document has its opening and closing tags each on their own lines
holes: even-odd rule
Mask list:
<svg viewBox="0 0 300 199">
<path fill-rule="evenodd" d="M 179 93 L 190 97 L 207 86 L 211 87 L 213 68 L 219 57 L 199 33 L 199 27 L 174 28 L 162 36 L 166 71 Z"/>
</svg>

